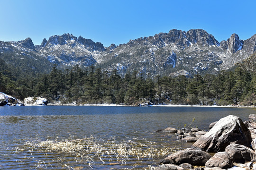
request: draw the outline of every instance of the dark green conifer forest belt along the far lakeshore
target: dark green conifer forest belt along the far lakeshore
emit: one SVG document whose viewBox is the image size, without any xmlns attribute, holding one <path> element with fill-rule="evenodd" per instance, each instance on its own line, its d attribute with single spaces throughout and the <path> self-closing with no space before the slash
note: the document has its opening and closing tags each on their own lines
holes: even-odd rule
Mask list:
<svg viewBox="0 0 256 170">
<path fill-rule="evenodd" d="M 137 71 L 119 76 L 118 70 L 101 70 L 78 65 L 49 74 L 21 74 L 0 62 L 0 92 L 23 100 L 43 96 L 49 102 L 76 104 L 154 104 L 256 105 L 256 74 L 241 68 L 218 75 L 193 77 L 155 76 L 145 78 Z"/>
</svg>

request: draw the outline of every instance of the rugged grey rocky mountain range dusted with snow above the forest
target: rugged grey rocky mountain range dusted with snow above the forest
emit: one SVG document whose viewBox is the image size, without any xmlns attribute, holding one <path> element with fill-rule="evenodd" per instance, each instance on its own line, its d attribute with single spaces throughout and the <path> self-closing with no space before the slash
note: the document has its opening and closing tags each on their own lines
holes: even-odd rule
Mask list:
<svg viewBox="0 0 256 170">
<path fill-rule="evenodd" d="M 247 40 L 232 34 L 228 40 L 218 42 L 202 29 L 173 29 L 109 47 L 73 34 L 51 36 L 41 45 L 34 45 L 30 38 L 0 42 L 0 58 L 15 67 L 25 65 L 27 70 L 21 71 L 49 72 L 54 64 L 58 68 L 78 64 L 108 71 L 117 69 L 121 76 L 134 70 L 145 76 L 216 74 L 254 52 L 256 34 Z"/>
</svg>

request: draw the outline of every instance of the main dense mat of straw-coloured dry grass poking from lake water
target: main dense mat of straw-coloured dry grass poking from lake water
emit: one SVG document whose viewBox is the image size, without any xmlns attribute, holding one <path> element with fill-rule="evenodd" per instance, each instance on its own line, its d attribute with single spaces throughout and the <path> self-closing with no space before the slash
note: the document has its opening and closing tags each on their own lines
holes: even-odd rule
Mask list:
<svg viewBox="0 0 256 170">
<path fill-rule="evenodd" d="M 29 147 L 31 155 L 33 152 L 73 155 L 73 161 L 88 164 L 91 169 L 94 165 L 111 165 L 111 162 L 122 165 L 126 164 L 127 161 L 152 161 L 178 150 L 178 148 L 166 147 L 164 144 L 159 146 L 146 139 L 134 138 L 133 140 L 137 142 L 132 140 L 119 142 L 115 137 L 98 140 L 91 136 L 76 140 L 27 142 L 26 146 Z M 60 160 L 58 159 L 58 161 Z M 72 167 L 69 168 L 72 169 Z M 147 169 L 154 170 L 155 167 L 148 166 Z"/>
</svg>

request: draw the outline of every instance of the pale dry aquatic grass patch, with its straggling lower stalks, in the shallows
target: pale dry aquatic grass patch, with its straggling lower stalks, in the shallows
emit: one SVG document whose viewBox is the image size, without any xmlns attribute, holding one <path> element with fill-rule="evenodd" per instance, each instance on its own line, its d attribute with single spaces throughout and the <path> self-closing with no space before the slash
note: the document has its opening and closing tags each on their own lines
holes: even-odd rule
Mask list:
<svg viewBox="0 0 256 170">
<path fill-rule="evenodd" d="M 72 136 L 73 137 L 73 136 Z M 52 168 L 52 164 L 61 163 L 65 169 L 73 170 L 74 162 L 85 164 L 93 169 L 95 166 L 126 165 L 137 169 L 145 161 L 154 162 L 157 158 L 179 150 L 177 147 L 166 147 L 165 144 L 156 144 L 147 139 L 133 138 L 116 140 L 115 137 L 96 138 L 93 136 L 82 139 L 60 140 L 34 140 L 25 142 L 23 148 L 17 148 L 16 152 L 28 152 L 31 155 L 44 153 L 45 155 L 58 153 L 60 156 L 51 162 L 37 162 L 37 168 Z M 73 162 L 73 163 L 72 163 Z M 129 162 L 129 163 L 128 163 Z M 47 165 L 47 166 L 46 166 Z M 154 166 L 148 165 L 145 170 L 154 170 Z M 129 168 L 131 169 L 131 168 Z"/>
</svg>

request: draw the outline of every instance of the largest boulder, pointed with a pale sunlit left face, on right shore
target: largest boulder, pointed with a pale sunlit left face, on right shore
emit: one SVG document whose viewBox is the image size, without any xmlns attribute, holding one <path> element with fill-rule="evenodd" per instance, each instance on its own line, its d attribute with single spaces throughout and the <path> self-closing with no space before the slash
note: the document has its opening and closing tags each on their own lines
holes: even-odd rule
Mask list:
<svg viewBox="0 0 256 170">
<path fill-rule="evenodd" d="M 250 147 L 251 142 L 250 131 L 243 121 L 237 116 L 229 115 L 219 119 L 208 133 L 192 145 L 192 148 L 217 153 L 225 151 L 229 144 L 243 144 Z"/>
</svg>

